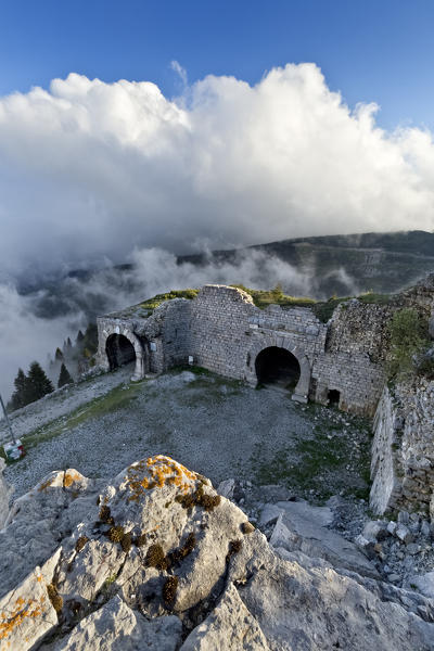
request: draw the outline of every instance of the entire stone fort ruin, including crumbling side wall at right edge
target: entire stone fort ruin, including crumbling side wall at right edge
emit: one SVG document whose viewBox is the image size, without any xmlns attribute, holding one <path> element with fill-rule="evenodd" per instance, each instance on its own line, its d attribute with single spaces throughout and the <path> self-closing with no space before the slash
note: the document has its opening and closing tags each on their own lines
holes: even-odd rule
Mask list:
<svg viewBox="0 0 434 651">
<path fill-rule="evenodd" d="M 294 400 L 335 404 L 373 416 L 370 506 L 434 520 L 434 381 L 385 383 L 388 322 L 412 307 L 434 339 L 434 275 L 386 302 L 341 303 L 323 323 L 308 307 L 259 309 L 243 290 L 205 285 L 192 298 L 138 305 L 98 319 L 98 363 L 135 362 L 133 380 L 194 363 L 256 386 L 275 384 Z"/>
</svg>

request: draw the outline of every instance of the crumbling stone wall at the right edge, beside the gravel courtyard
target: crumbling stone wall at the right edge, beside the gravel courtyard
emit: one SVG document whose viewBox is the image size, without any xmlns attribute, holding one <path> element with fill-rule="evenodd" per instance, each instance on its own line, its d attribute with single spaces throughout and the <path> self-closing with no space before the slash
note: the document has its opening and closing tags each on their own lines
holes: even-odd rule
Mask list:
<svg viewBox="0 0 434 651">
<path fill-rule="evenodd" d="M 416 379 L 384 388 L 374 418 L 370 506 L 387 510 L 433 509 L 434 381 Z M 434 516 L 434 512 L 431 513 Z"/>
</svg>

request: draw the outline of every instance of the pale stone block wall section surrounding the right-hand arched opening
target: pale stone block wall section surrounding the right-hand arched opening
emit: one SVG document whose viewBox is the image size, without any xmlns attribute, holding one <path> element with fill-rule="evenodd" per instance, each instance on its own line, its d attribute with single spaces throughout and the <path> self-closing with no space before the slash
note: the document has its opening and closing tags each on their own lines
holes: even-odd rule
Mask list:
<svg viewBox="0 0 434 651">
<path fill-rule="evenodd" d="M 255 385 L 257 355 L 268 347 L 284 348 L 301 367 L 292 397 L 306 401 L 326 330 L 308 308 L 270 305 L 260 310 L 242 290 L 206 285 L 191 303 L 189 354 L 199 366 Z"/>
</svg>

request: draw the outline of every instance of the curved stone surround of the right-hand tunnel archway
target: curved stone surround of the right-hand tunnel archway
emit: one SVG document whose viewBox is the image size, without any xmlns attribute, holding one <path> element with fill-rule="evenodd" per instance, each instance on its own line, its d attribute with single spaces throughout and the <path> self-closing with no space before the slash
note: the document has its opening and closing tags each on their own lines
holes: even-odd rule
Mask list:
<svg viewBox="0 0 434 651">
<path fill-rule="evenodd" d="M 299 365 L 299 380 L 292 395 L 292 399 L 298 403 L 307 403 L 307 397 L 309 395 L 309 386 L 310 386 L 310 378 L 311 378 L 311 365 L 308 358 L 306 357 L 306 353 L 302 346 L 297 346 L 294 342 L 288 341 L 286 337 L 283 336 L 265 336 L 259 341 L 255 342 L 253 346 L 250 348 L 247 354 L 247 372 L 246 380 L 252 384 L 256 383 L 256 372 L 255 372 L 255 360 L 256 357 L 261 353 L 265 348 L 284 348 L 298 361 Z"/>
</svg>

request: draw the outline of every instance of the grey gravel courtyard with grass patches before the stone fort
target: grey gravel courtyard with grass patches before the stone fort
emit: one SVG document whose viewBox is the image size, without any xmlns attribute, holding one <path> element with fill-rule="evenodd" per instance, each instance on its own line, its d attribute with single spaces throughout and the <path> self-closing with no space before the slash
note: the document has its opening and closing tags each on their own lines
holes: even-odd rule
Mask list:
<svg viewBox="0 0 434 651">
<path fill-rule="evenodd" d="M 199 369 L 138 383 L 129 375 L 123 368 L 44 399 L 34 406 L 34 420 L 26 408 L 16 423 L 28 454 L 4 472 L 15 498 L 52 470 L 110 477 L 165 454 L 215 485 L 237 477 L 280 484 L 310 501 L 335 494 L 366 499 L 369 421 Z"/>
</svg>

